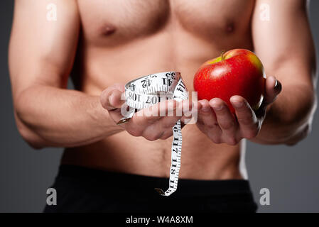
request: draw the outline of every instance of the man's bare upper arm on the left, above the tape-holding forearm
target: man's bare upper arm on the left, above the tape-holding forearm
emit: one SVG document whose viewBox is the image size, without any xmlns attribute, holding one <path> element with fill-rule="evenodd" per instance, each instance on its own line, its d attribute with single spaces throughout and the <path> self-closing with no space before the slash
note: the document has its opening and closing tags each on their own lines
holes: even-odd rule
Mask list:
<svg viewBox="0 0 319 227">
<path fill-rule="evenodd" d="M 57 17 L 52 21 L 47 16 L 55 9 Z M 65 87 L 77 48 L 79 21 L 74 0 L 16 0 L 9 44 L 13 99 L 35 84 Z"/>
</svg>

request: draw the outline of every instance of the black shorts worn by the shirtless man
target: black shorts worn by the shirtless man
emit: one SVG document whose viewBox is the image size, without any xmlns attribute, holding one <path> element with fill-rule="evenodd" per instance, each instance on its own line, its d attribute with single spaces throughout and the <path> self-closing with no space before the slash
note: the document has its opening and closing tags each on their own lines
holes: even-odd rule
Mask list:
<svg viewBox="0 0 319 227">
<path fill-rule="evenodd" d="M 44 212 L 255 212 L 247 180 L 179 179 L 171 196 L 161 196 L 168 179 L 61 165 L 57 205 Z"/>
</svg>

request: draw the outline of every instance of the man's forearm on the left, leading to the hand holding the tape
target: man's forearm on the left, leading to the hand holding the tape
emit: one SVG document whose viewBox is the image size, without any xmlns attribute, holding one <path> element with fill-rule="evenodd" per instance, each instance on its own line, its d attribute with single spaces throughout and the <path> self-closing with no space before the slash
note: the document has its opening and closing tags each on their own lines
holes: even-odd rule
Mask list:
<svg viewBox="0 0 319 227">
<path fill-rule="evenodd" d="M 15 101 L 19 131 L 28 143 L 72 147 L 122 131 L 102 108 L 99 96 L 47 86 L 34 86 Z"/>
</svg>

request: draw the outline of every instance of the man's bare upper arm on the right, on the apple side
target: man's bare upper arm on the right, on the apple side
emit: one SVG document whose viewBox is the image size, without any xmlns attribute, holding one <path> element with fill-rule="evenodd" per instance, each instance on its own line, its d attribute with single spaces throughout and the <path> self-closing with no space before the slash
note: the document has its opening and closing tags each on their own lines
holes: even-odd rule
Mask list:
<svg viewBox="0 0 319 227">
<path fill-rule="evenodd" d="M 315 51 L 306 1 L 257 0 L 252 18 L 254 51 L 266 74 L 313 86 Z"/>
</svg>

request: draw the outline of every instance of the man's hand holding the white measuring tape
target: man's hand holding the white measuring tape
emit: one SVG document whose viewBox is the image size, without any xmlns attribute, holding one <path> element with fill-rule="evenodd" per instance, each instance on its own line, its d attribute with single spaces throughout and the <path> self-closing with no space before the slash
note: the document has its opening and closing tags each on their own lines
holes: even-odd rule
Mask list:
<svg viewBox="0 0 319 227">
<path fill-rule="evenodd" d="M 121 114 L 121 107 L 125 103 L 124 100 L 121 100 L 123 92 L 123 84 L 114 84 L 105 89 L 100 96 L 102 106 L 109 111 L 109 116 L 115 123 L 123 117 Z M 143 109 L 143 111 L 140 110 L 142 113 L 134 114 L 128 122 L 119 126 L 129 134 L 143 136 L 146 140 L 165 140 L 173 135 L 172 127 L 175 123 L 179 119 L 184 121 L 186 118 L 183 114 L 176 116 L 176 110 L 179 110 L 178 113 L 184 113 L 183 109 L 190 110 L 191 108 L 192 103 L 188 100 L 180 102 L 175 100 L 161 101 L 154 106 Z M 160 111 L 165 113 L 165 116 L 160 114 Z M 168 116 L 168 113 L 171 113 L 170 116 Z"/>
</svg>

